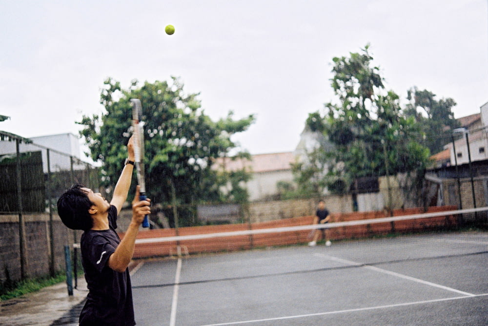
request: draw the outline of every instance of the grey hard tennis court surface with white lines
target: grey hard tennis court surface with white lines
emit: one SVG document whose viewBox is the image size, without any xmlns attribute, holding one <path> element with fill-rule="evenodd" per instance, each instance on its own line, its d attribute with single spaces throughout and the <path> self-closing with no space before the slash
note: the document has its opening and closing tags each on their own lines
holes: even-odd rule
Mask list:
<svg viewBox="0 0 488 326">
<path fill-rule="evenodd" d="M 138 325 L 488 325 L 488 233 L 148 260 Z"/>
</svg>

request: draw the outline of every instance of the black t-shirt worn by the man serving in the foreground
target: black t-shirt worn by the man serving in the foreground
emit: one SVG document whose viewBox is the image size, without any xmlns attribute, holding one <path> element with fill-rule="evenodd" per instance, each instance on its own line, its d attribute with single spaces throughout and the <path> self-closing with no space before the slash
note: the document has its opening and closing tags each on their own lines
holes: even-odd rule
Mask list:
<svg viewBox="0 0 488 326">
<path fill-rule="evenodd" d="M 80 326 L 133 326 L 134 307 L 129 269 L 119 273 L 108 267 L 108 258 L 120 243 L 117 208 L 108 211 L 109 230 L 87 230 L 81 235 L 81 263 L 88 285 Z"/>
</svg>

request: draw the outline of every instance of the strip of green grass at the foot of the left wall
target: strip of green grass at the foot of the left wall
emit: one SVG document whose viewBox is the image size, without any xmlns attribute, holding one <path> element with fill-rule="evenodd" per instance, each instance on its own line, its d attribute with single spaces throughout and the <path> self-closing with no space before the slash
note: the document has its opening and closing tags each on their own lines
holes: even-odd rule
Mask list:
<svg viewBox="0 0 488 326">
<path fill-rule="evenodd" d="M 58 272 L 54 277 L 43 276 L 22 281 L 10 281 L 0 284 L 0 301 L 20 297 L 21 295 L 37 292 L 41 288 L 49 287 L 66 281 L 66 274 Z"/>
</svg>

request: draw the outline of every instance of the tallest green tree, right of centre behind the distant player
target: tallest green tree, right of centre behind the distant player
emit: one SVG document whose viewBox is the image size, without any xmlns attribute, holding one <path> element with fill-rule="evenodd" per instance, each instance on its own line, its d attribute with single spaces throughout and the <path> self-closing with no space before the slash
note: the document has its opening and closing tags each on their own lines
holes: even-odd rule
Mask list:
<svg viewBox="0 0 488 326">
<path fill-rule="evenodd" d="M 397 94 L 385 90 L 372 60 L 369 45 L 361 53 L 333 58 L 331 86 L 336 99 L 325 103 L 324 115 L 316 112 L 306 121 L 331 146 L 309 154 L 309 164 L 299 172 L 303 185 L 308 180 L 308 185 L 343 193 L 358 177 L 423 175 L 429 152 L 417 142 L 415 119 L 404 114 Z"/>
</svg>

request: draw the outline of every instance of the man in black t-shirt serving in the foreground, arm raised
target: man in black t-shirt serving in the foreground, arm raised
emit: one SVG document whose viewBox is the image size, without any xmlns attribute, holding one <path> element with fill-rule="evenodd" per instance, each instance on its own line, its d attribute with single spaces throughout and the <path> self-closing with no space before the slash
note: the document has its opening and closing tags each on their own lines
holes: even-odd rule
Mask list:
<svg viewBox="0 0 488 326">
<path fill-rule="evenodd" d="M 58 200 L 62 222 L 81 235 L 81 261 L 88 285 L 80 326 L 133 326 L 134 307 L 128 265 L 144 215 L 150 213 L 150 199 L 139 201 L 139 186 L 132 202 L 132 220 L 120 240 L 117 216 L 127 199 L 134 166 L 133 139 L 127 144 L 128 158 L 110 203 L 100 193 L 75 185 Z"/>
</svg>

